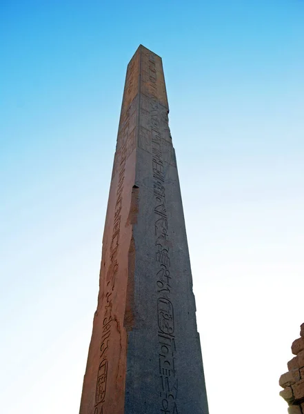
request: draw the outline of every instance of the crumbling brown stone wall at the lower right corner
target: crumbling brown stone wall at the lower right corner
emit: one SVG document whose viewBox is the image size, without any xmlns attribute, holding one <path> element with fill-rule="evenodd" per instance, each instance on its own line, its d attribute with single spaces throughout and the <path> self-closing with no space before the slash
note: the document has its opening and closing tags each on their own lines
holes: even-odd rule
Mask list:
<svg viewBox="0 0 304 414">
<path fill-rule="evenodd" d="M 292 343 L 292 353 L 296 356 L 287 363 L 288 372 L 279 380 L 284 388 L 280 395 L 289 405 L 289 414 L 304 414 L 304 324 L 300 336 Z"/>
</svg>

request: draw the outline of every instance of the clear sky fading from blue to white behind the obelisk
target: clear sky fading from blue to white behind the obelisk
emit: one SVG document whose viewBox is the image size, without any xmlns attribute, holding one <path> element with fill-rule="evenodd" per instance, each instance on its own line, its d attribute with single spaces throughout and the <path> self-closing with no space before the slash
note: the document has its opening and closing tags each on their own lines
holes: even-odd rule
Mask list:
<svg viewBox="0 0 304 414">
<path fill-rule="evenodd" d="M 286 414 L 304 2 L 0 1 L 0 400 L 79 412 L 125 70 L 163 57 L 210 414 Z M 188 413 L 180 413 L 188 414 Z"/>
</svg>

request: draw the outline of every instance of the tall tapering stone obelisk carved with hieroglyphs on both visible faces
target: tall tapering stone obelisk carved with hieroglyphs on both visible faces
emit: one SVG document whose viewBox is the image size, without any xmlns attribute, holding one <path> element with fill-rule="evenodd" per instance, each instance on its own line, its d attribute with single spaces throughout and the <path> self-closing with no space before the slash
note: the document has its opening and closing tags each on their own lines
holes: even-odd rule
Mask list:
<svg viewBox="0 0 304 414">
<path fill-rule="evenodd" d="M 207 414 L 161 57 L 128 64 L 80 414 Z"/>
</svg>

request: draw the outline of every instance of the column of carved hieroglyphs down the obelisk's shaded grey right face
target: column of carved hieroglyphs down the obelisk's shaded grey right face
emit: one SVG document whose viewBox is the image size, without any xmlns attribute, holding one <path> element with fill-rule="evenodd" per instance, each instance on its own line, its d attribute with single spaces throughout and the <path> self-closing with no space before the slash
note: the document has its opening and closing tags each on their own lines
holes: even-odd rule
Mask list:
<svg viewBox="0 0 304 414">
<path fill-rule="evenodd" d="M 170 300 L 172 296 L 172 275 L 170 274 L 170 246 L 168 233 L 168 215 L 165 207 L 165 168 L 163 162 L 163 142 L 160 128 L 160 108 L 156 87 L 156 70 L 154 55 L 149 55 L 148 61 L 150 81 L 150 126 L 152 176 L 154 193 L 154 236 L 157 315 L 158 315 L 158 357 L 160 378 L 160 414 L 179 414 L 176 404 L 178 393 L 178 378 L 175 369 L 176 342 L 174 336 L 174 309 Z"/>
</svg>

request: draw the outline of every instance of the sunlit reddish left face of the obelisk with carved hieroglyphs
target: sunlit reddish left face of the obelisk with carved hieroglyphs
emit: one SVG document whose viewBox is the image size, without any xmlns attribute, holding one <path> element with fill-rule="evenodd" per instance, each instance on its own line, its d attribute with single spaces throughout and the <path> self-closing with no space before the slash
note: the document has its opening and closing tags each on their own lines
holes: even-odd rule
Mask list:
<svg viewBox="0 0 304 414">
<path fill-rule="evenodd" d="M 94 317 L 80 414 L 123 413 L 126 335 L 123 328 L 128 277 L 128 226 L 134 182 L 139 53 L 129 63 L 103 235 L 99 304 Z M 129 158 L 130 157 L 130 158 Z"/>
</svg>

